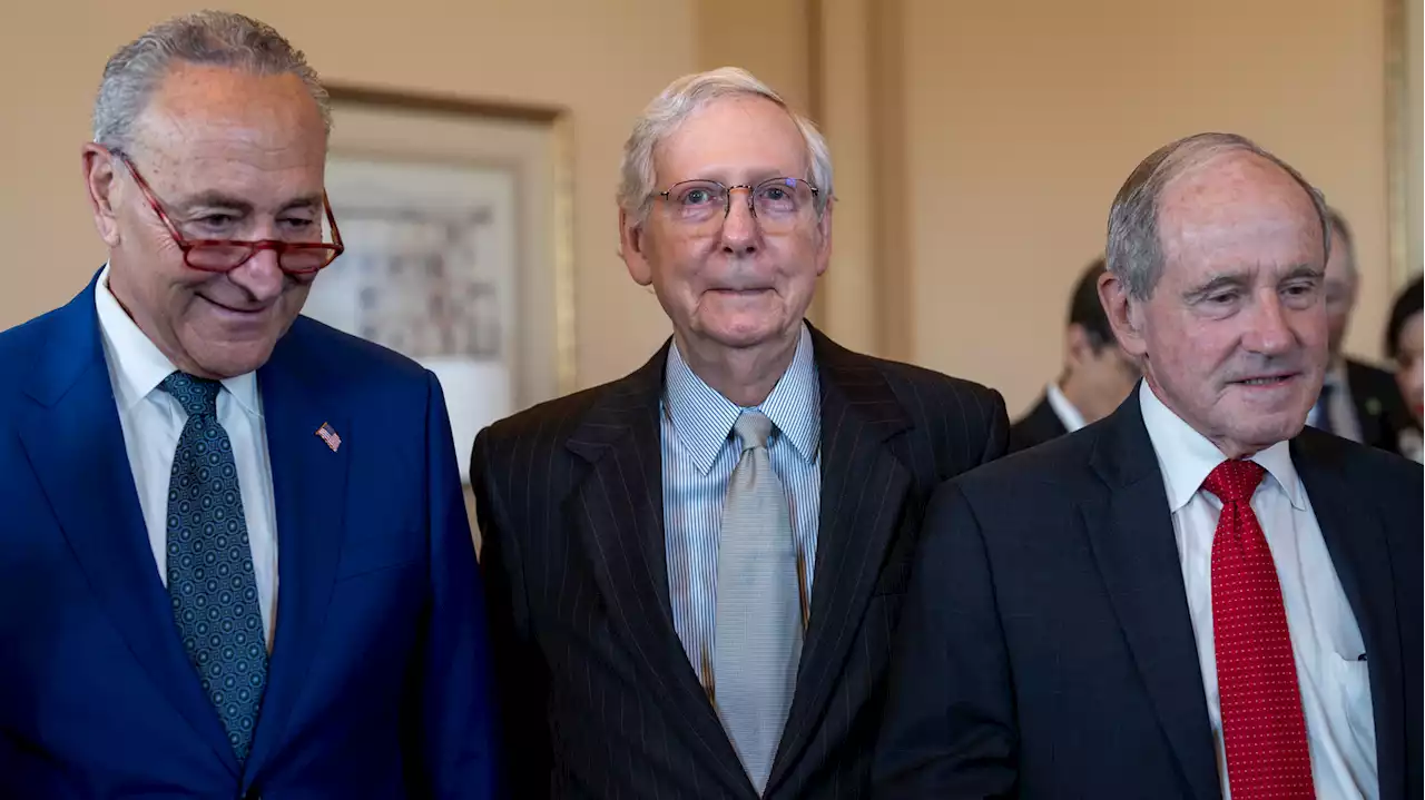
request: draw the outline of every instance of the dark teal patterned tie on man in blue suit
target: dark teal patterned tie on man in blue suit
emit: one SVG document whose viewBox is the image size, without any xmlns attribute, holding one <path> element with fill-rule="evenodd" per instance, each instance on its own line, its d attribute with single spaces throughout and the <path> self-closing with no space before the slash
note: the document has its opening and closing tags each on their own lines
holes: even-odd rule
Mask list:
<svg viewBox="0 0 1425 800">
<path fill-rule="evenodd" d="M 266 686 L 266 639 L 232 441 L 215 380 L 172 373 L 160 387 L 188 421 L 168 478 L 168 596 L 184 651 L 247 760 Z"/>
</svg>

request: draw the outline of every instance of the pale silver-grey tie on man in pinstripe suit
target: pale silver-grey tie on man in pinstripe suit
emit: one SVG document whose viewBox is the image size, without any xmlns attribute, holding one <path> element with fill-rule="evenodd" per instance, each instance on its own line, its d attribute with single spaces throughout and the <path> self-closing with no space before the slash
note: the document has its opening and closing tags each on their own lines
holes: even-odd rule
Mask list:
<svg viewBox="0 0 1425 800">
<path fill-rule="evenodd" d="M 772 421 L 742 411 L 732 430 L 742 457 L 732 470 L 718 535 L 714 703 L 761 794 L 797 689 L 801 584 L 787 494 L 767 454 Z"/>
</svg>

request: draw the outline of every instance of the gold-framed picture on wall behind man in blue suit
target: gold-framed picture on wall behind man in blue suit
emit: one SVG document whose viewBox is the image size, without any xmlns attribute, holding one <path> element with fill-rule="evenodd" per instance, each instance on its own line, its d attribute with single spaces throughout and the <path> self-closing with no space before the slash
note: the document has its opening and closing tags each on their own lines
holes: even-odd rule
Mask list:
<svg viewBox="0 0 1425 800">
<path fill-rule="evenodd" d="M 440 379 L 469 483 L 482 427 L 574 389 L 569 117 L 328 90 L 326 191 L 346 252 L 304 313 Z"/>
</svg>

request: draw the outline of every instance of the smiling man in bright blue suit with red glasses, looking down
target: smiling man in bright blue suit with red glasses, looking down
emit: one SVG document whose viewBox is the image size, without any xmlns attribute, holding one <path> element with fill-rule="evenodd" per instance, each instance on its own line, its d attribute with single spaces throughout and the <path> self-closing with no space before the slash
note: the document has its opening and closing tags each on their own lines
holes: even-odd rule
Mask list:
<svg viewBox="0 0 1425 800">
<path fill-rule="evenodd" d="M 108 263 L 0 333 L 0 796 L 494 793 L 440 386 L 298 316 L 342 249 L 325 115 L 237 14 L 105 68 Z"/>
</svg>

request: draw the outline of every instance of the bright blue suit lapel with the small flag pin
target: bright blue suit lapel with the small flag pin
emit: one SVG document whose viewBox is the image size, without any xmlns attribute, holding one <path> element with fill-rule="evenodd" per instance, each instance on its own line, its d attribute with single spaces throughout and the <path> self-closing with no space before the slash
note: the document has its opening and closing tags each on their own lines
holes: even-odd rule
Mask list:
<svg viewBox="0 0 1425 800">
<path fill-rule="evenodd" d="M 322 391 L 323 381 L 314 374 L 321 370 L 322 356 L 304 352 L 302 323 L 299 319 L 258 370 L 276 505 L 279 589 L 276 636 L 249 773 L 281 744 L 321 641 L 345 532 L 346 471 L 352 450 L 361 447 L 341 406 Z M 341 436 L 336 451 L 316 436 L 322 423 Z"/>
</svg>

